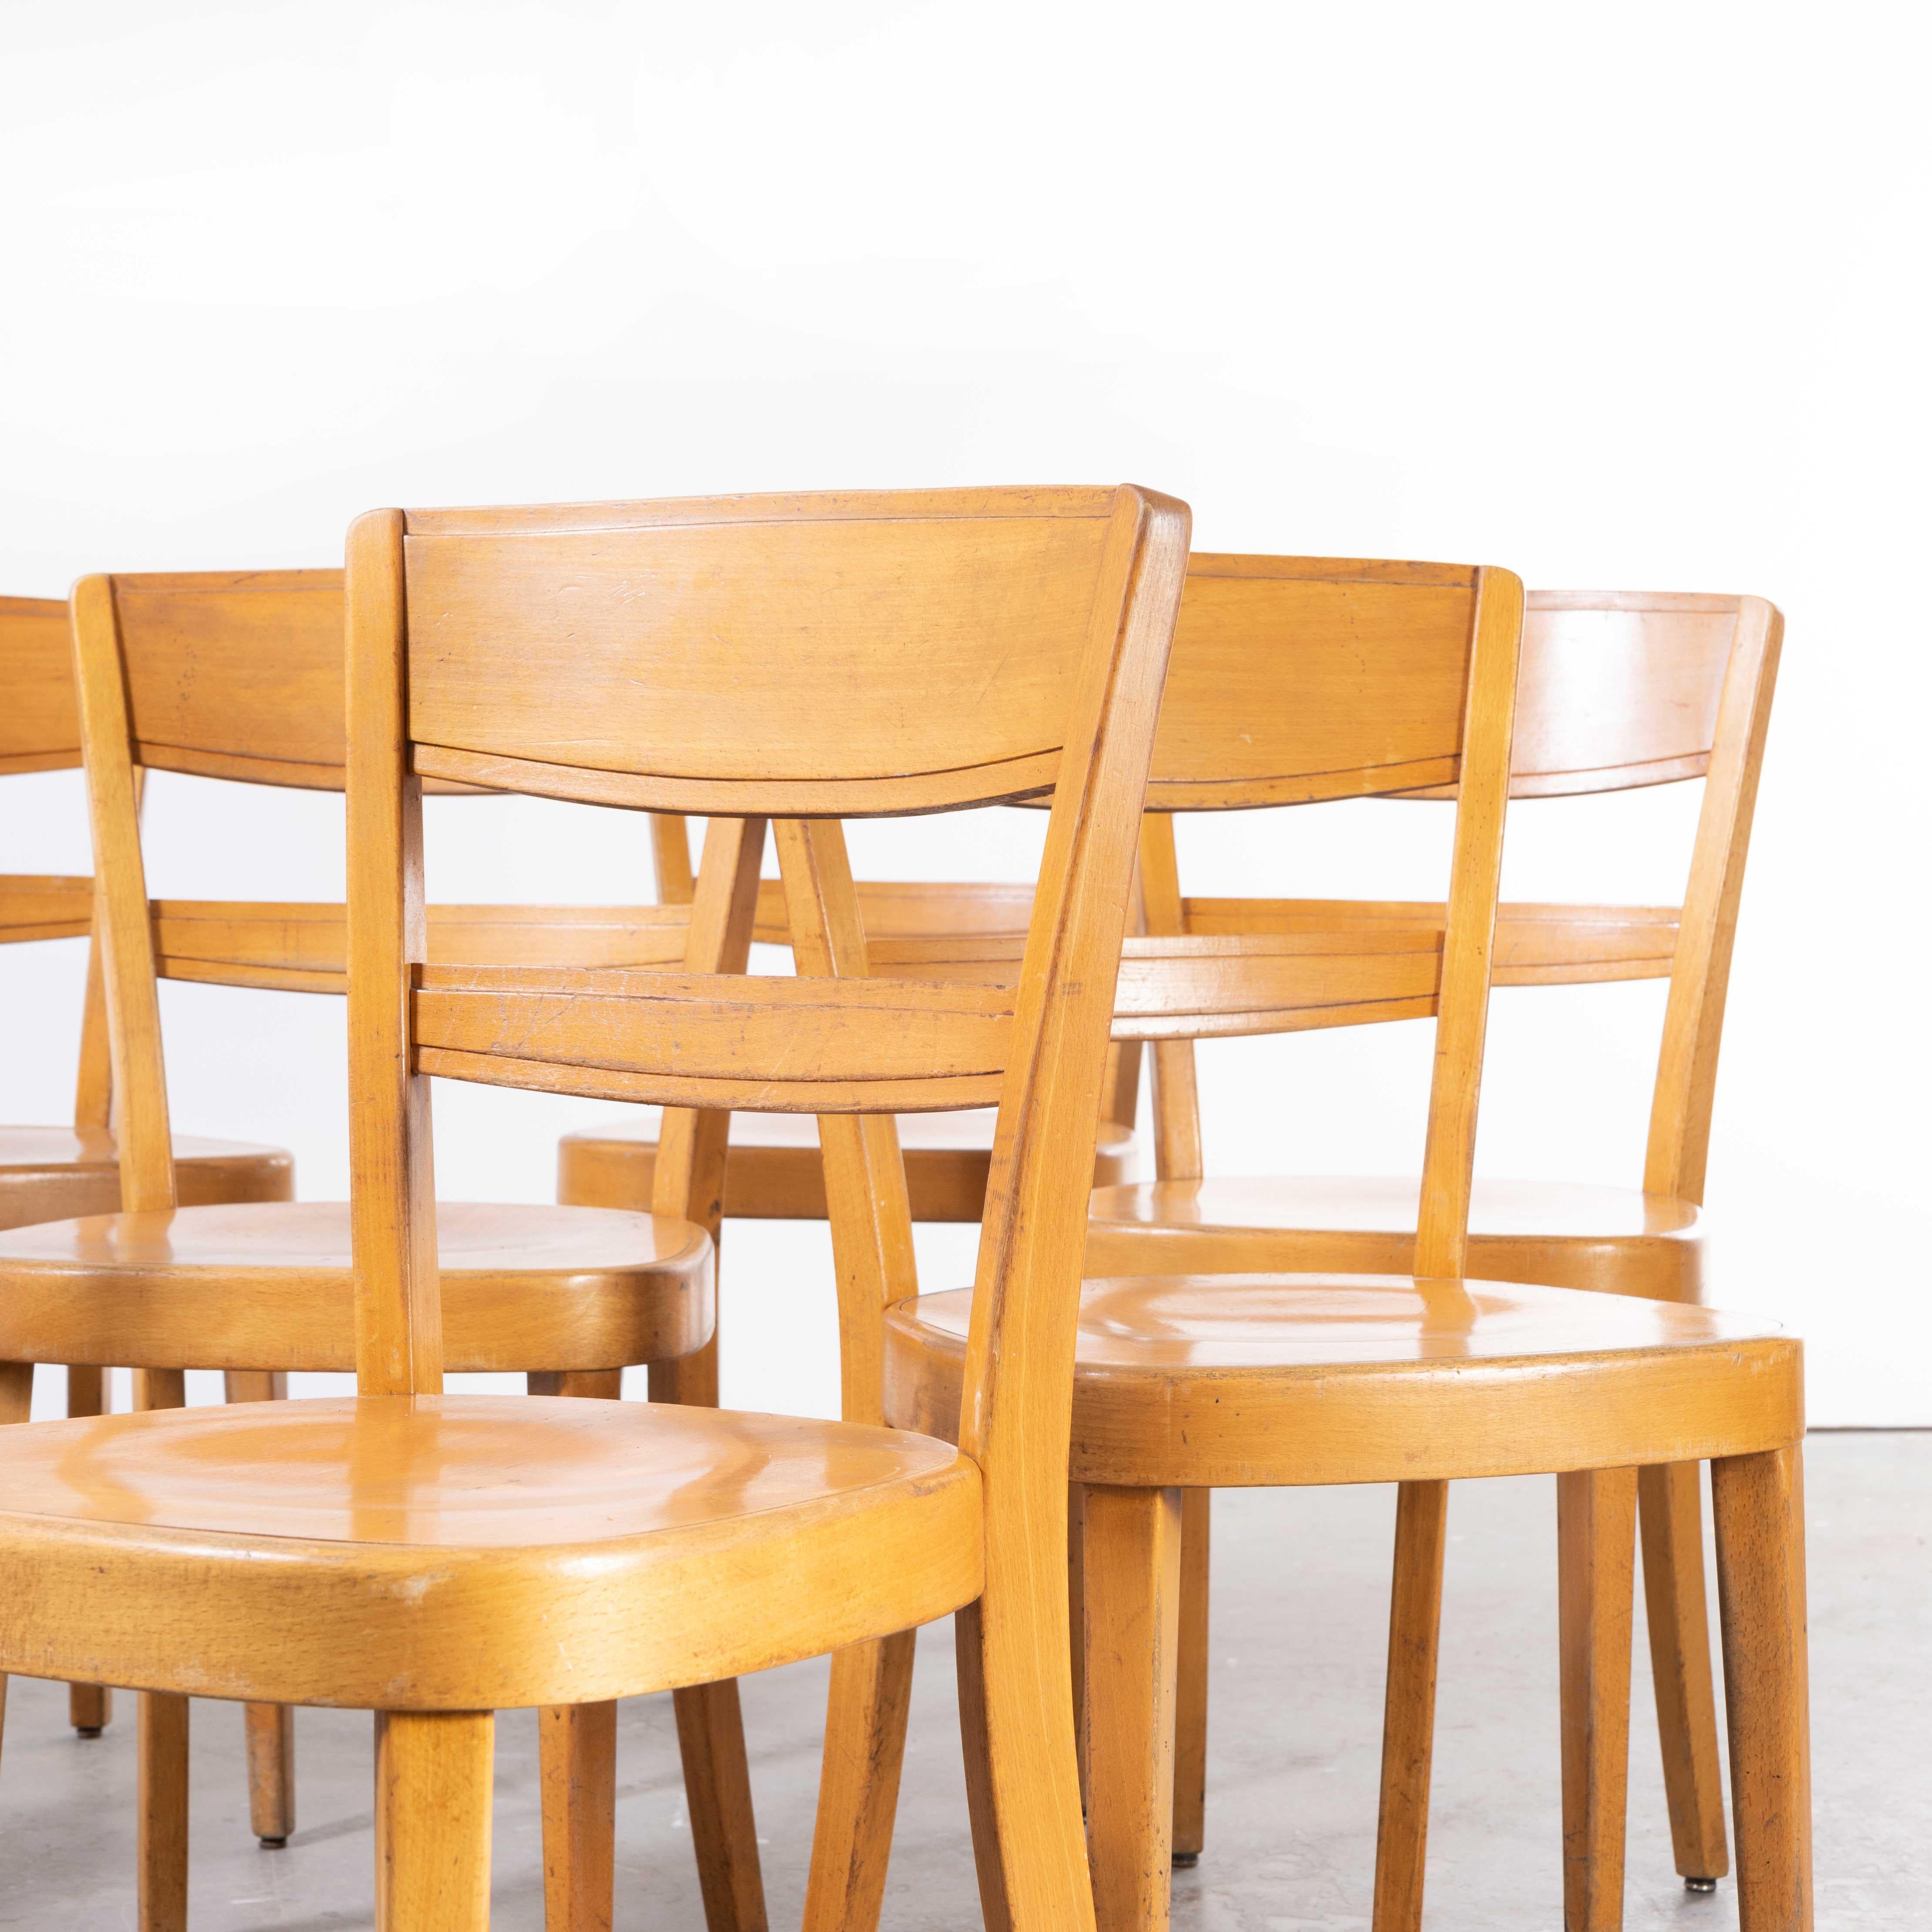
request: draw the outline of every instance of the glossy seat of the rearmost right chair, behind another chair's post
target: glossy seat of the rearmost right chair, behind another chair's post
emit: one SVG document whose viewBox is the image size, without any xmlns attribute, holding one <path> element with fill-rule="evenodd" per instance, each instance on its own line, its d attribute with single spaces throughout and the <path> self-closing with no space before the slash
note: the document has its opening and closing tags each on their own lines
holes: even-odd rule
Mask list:
<svg viewBox="0 0 1932 1932">
<path fill-rule="evenodd" d="M 1414 1267 L 1414 1179 L 1294 1175 L 1153 1180 L 1097 1188 L 1090 1275 L 1302 1273 L 1399 1275 Z M 1704 1229 L 1690 1204 L 1636 1188 L 1569 1180 L 1478 1180 L 1468 1271 L 1702 1300 Z"/>
</svg>

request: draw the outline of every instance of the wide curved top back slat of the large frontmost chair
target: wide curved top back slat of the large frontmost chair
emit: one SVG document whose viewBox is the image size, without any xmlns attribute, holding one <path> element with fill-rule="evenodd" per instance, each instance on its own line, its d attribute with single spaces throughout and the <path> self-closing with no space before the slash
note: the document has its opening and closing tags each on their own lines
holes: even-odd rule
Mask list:
<svg viewBox="0 0 1932 1932">
<path fill-rule="evenodd" d="M 412 512 L 415 769 L 782 815 L 1051 784 L 1111 493 L 840 502 Z"/>
</svg>

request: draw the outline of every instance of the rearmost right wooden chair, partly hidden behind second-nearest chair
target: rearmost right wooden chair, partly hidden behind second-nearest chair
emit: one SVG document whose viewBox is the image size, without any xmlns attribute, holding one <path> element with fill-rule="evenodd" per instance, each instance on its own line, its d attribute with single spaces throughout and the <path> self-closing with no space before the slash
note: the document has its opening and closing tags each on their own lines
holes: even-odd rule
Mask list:
<svg viewBox="0 0 1932 1932">
<path fill-rule="evenodd" d="M 1202 578 L 1196 593 L 1215 583 Z M 1671 989 L 1642 1188 L 1478 1179 L 1468 1227 L 1472 1275 L 1671 1302 L 1704 1298 L 1700 1206 L 1718 1041 L 1781 632 L 1777 611 L 1758 597 L 1528 597 L 1511 798 L 1700 777 L 1706 790 L 1681 908 L 1499 908 L 1495 985 L 1667 978 Z M 1453 798 L 1455 788 L 1406 796 Z M 1150 931 L 1441 929 L 1441 906 L 1182 898 L 1173 823 L 1151 813 L 1142 835 Z M 1157 1053 L 1159 1179 L 1094 1196 L 1092 1273 L 1414 1267 L 1416 1180 L 1204 1179 L 1194 1047 L 1171 1041 Z M 1710 1891 L 1729 1857 L 1696 1464 L 1646 1468 L 1638 1509 L 1673 1851 L 1687 1886 Z M 1190 1861 L 1204 1841 L 1208 1492 L 1188 1493 L 1184 1519 L 1175 1847 Z"/>
</svg>

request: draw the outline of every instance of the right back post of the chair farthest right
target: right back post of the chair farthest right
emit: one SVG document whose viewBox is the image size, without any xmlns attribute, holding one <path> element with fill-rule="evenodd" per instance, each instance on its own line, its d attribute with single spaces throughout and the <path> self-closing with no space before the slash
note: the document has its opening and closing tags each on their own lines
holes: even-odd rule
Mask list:
<svg viewBox="0 0 1932 1932">
<path fill-rule="evenodd" d="M 1644 1192 L 1692 1204 L 1704 1200 L 1723 1003 L 1783 634 L 1783 612 L 1776 605 L 1762 597 L 1739 599 L 1690 881 L 1677 923 L 1644 1151 Z"/>
</svg>

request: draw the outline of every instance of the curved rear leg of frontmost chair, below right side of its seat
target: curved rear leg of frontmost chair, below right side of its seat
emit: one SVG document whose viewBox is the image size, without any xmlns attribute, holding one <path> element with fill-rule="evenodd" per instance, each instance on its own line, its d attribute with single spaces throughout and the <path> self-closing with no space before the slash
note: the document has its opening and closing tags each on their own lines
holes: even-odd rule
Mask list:
<svg viewBox="0 0 1932 1932">
<path fill-rule="evenodd" d="M 960 1745 L 985 1932 L 1094 1932 L 1059 1604 L 954 1611 Z"/>
</svg>

